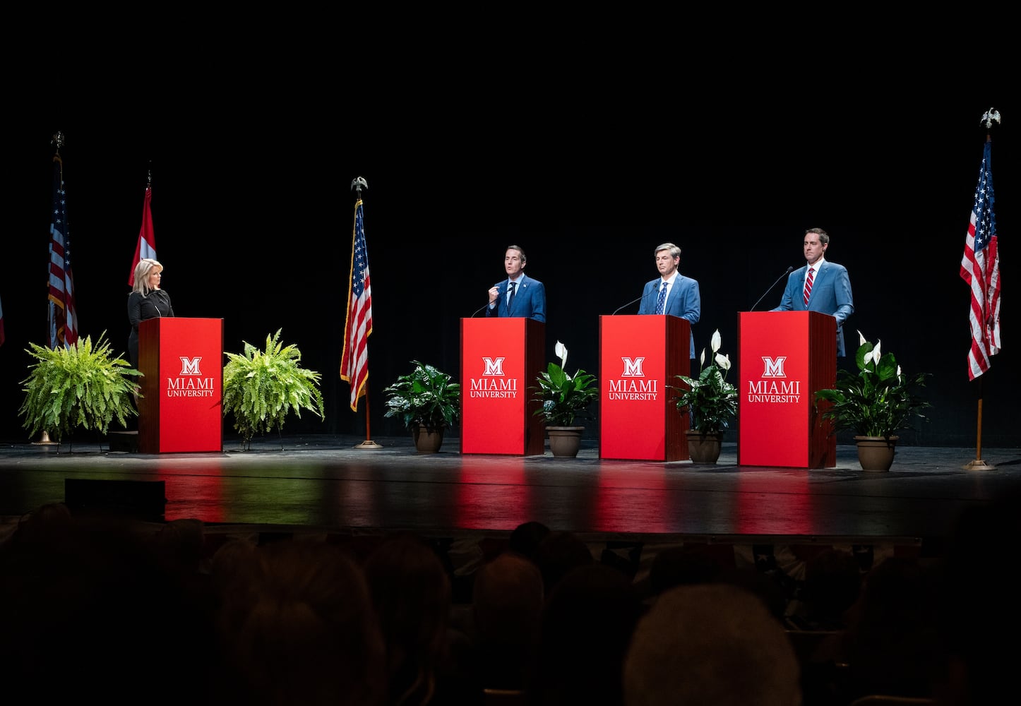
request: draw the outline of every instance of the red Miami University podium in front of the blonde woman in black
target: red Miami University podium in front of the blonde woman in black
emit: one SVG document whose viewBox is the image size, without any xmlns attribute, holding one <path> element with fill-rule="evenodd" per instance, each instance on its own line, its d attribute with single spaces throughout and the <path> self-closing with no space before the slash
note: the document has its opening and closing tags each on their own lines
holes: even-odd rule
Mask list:
<svg viewBox="0 0 1021 706">
<path fill-rule="evenodd" d="M 224 319 L 142 321 L 138 367 L 140 452 L 224 450 Z"/>
</svg>

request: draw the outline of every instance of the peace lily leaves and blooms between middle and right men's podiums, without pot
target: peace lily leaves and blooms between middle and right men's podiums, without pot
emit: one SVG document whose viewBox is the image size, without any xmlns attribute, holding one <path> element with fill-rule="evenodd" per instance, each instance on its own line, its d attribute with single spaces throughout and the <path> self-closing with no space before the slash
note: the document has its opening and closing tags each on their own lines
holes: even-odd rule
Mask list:
<svg viewBox="0 0 1021 706">
<path fill-rule="evenodd" d="M 706 349 L 702 349 L 698 364 L 698 377 L 677 375 L 686 387 L 669 386 L 677 393 L 677 409 L 682 414 L 691 415 L 690 428 L 699 434 L 720 434 L 737 416 L 737 388 L 727 382 L 730 370 L 730 354 L 720 353 L 722 338 L 720 330 L 713 333 L 710 347 L 713 358 L 706 364 Z"/>
</svg>

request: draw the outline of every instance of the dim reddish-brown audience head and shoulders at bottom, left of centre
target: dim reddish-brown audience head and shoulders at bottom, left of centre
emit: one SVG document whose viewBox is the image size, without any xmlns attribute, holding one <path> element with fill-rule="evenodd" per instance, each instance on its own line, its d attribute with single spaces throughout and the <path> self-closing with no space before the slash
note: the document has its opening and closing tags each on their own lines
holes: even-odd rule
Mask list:
<svg viewBox="0 0 1021 706">
<path fill-rule="evenodd" d="M 227 574 L 220 586 L 255 581 L 243 598 L 222 603 L 229 614 L 217 623 L 215 703 L 386 703 L 383 638 L 352 558 L 314 540 L 278 541 L 231 559 L 224 551 L 214 557 Z"/>
</svg>

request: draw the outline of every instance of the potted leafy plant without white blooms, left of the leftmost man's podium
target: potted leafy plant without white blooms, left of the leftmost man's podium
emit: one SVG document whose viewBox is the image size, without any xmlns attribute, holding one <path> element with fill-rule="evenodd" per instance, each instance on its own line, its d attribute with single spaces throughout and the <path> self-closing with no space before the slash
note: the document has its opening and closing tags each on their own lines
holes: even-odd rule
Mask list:
<svg viewBox="0 0 1021 706">
<path fill-rule="evenodd" d="M 435 453 L 443 434 L 460 417 L 460 384 L 434 365 L 412 360 L 415 368 L 383 389 L 387 396 L 383 416 L 399 417 L 411 432 L 415 448 Z"/>
</svg>

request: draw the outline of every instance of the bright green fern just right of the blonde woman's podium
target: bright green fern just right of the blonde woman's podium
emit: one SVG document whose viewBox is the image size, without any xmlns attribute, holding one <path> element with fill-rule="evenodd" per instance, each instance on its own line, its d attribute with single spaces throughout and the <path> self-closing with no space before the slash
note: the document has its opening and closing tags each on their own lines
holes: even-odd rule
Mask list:
<svg viewBox="0 0 1021 706">
<path fill-rule="evenodd" d="M 256 434 L 284 428 L 293 412 L 298 418 L 307 409 L 326 416 L 319 385 L 322 375 L 300 365 L 301 351 L 280 342 L 281 329 L 265 337 L 265 349 L 247 342 L 244 353 L 227 353 L 224 366 L 224 416 L 234 415 L 234 428 L 245 451 Z"/>
</svg>

